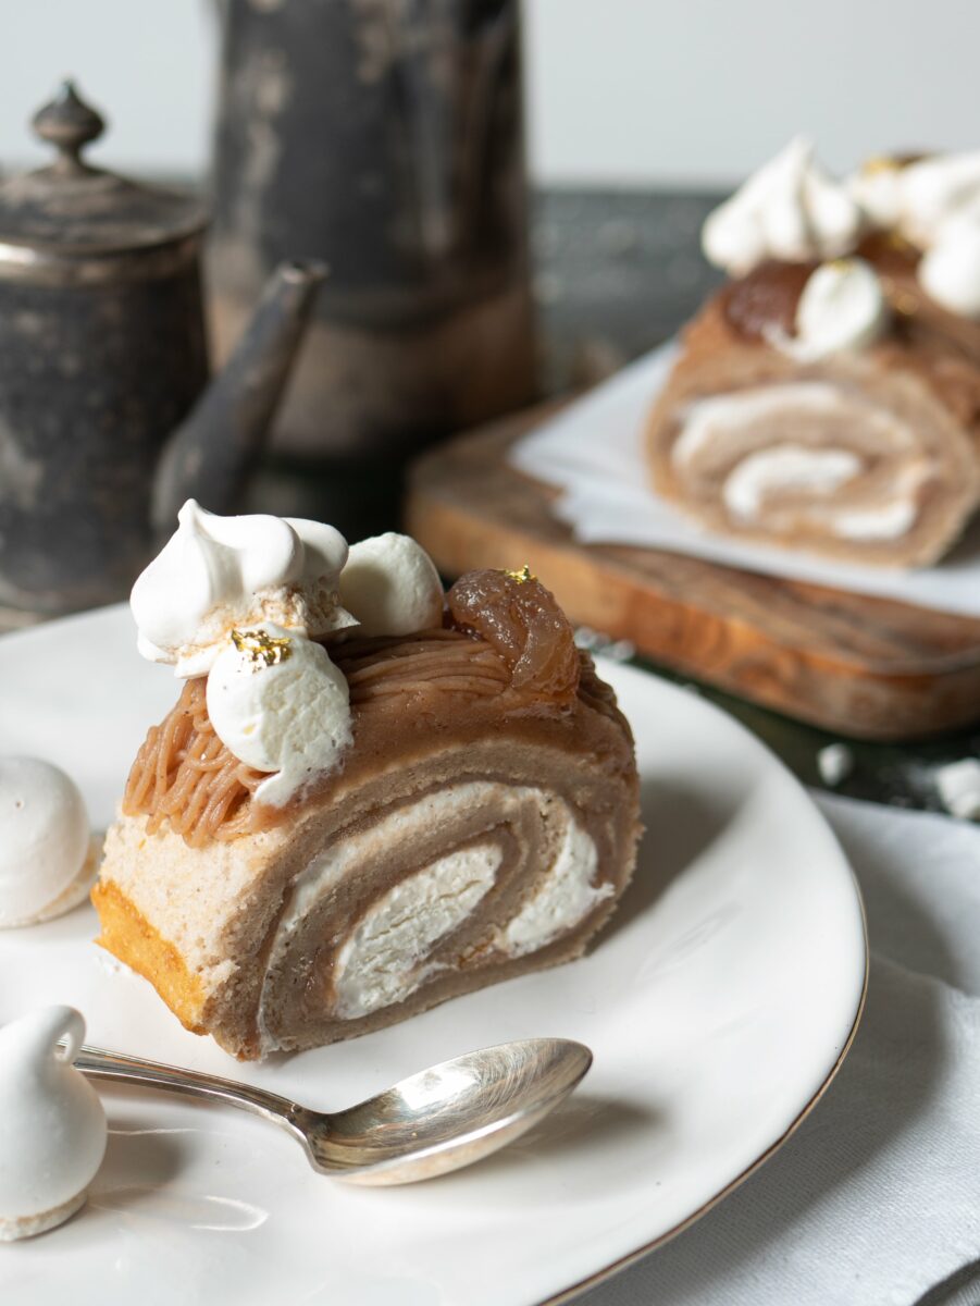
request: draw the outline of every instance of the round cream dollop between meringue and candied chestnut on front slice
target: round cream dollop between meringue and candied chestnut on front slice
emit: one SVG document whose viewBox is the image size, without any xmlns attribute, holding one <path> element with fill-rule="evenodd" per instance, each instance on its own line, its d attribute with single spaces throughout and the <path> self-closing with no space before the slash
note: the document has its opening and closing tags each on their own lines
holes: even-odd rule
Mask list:
<svg viewBox="0 0 980 1306">
<path fill-rule="evenodd" d="M 414 635 L 442 624 L 442 582 L 411 535 L 388 532 L 352 545 L 341 602 L 363 635 Z"/>
</svg>

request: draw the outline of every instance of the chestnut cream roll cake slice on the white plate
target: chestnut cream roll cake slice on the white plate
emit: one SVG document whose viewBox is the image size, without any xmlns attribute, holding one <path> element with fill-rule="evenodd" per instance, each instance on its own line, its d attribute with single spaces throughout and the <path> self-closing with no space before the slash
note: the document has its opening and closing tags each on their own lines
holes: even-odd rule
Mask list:
<svg viewBox="0 0 980 1306">
<path fill-rule="evenodd" d="M 577 957 L 634 865 L 629 727 L 551 594 L 527 573 L 475 572 L 445 613 L 440 590 L 438 624 L 365 635 L 431 616 L 435 596 L 408 584 L 391 620 L 363 547 L 339 593 L 364 620 L 314 645 L 346 686 L 347 735 L 329 695 L 296 688 L 304 635 L 235 628 L 243 648 L 150 730 L 107 837 L 99 942 L 239 1058 L 351 1038 Z M 217 733 L 271 738 L 268 712 L 227 725 L 228 686 L 235 701 L 261 690 L 300 739 L 339 739 L 330 764 L 283 795 L 288 761 L 260 771 Z"/>
</svg>

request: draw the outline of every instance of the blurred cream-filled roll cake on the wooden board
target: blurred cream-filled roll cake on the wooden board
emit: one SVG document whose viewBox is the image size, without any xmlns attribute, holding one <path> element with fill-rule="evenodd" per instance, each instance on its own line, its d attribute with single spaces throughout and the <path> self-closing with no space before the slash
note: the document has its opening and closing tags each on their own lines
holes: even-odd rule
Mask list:
<svg viewBox="0 0 980 1306">
<path fill-rule="evenodd" d="M 735 279 L 650 414 L 654 486 L 748 542 L 934 563 L 980 503 L 980 323 L 805 153 L 775 162 L 706 225 Z"/>
</svg>

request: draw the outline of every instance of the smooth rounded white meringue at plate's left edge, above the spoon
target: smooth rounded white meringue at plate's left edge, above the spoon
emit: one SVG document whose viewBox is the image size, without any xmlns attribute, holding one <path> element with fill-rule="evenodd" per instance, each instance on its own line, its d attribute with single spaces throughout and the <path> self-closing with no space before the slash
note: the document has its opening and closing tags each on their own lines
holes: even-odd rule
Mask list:
<svg viewBox="0 0 980 1306">
<path fill-rule="evenodd" d="M 97 848 L 78 786 L 39 757 L 0 757 L 0 929 L 61 916 L 89 892 Z"/>
</svg>

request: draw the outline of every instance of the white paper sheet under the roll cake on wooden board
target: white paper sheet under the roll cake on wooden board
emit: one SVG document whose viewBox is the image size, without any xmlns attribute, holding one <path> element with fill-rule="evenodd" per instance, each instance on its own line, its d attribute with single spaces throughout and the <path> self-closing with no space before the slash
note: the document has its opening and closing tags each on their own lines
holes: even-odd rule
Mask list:
<svg viewBox="0 0 980 1306">
<path fill-rule="evenodd" d="M 676 345 L 664 345 L 632 363 L 512 449 L 513 466 L 564 490 L 555 513 L 573 528 L 577 539 L 646 545 L 770 576 L 980 616 L 980 518 L 938 565 L 891 571 L 736 543 L 703 530 L 659 499 L 650 488 L 643 458 L 643 424 L 676 351 Z"/>
</svg>

